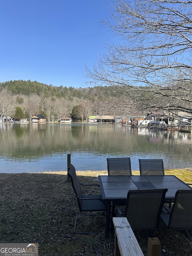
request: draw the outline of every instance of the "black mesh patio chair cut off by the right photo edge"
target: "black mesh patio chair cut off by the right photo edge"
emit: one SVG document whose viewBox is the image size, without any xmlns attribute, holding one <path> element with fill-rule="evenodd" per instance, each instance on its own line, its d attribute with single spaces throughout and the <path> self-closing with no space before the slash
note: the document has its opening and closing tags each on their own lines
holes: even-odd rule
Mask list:
<svg viewBox="0 0 192 256">
<path fill-rule="evenodd" d="M 192 190 L 178 190 L 170 212 L 162 212 L 161 219 L 168 229 L 186 230 L 192 241 L 189 230 L 192 230 Z"/>
</svg>

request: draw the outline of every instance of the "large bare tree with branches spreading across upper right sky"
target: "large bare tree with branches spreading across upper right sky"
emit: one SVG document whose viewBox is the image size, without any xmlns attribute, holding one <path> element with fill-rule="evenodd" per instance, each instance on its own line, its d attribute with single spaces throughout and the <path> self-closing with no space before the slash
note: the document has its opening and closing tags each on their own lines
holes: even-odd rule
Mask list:
<svg viewBox="0 0 192 256">
<path fill-rule="evenodd" d="M 101 22 L 118 43 L 85 68 L 88 84 L 121 90 L 138 112 L 191 114 L 192 1 L 112 0 L 109 10 Z"/>
</svg>

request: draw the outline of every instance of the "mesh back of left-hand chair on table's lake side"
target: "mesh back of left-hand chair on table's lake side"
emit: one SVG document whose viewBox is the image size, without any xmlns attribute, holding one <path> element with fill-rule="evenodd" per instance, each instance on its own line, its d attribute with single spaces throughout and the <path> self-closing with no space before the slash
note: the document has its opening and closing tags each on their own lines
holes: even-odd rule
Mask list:
<svg viewBox="0 0 192 256">
<path fill-rule="evenodd" d="M 107 158 L 108 175 L 132 175 L 130 157 Z"/>
</svg>

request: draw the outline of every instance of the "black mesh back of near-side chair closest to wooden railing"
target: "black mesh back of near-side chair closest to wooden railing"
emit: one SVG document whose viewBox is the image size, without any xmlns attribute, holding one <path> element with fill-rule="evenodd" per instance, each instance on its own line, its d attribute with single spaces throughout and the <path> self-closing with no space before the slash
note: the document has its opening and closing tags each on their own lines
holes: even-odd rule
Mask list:
<svg viewBox="0 0 192 256">
<path fill-rule="evenodd" d="M 165 189 L 129 190 L 125 217 L 133 230 L 157 229 L 165 201 Z"/>
</svg>

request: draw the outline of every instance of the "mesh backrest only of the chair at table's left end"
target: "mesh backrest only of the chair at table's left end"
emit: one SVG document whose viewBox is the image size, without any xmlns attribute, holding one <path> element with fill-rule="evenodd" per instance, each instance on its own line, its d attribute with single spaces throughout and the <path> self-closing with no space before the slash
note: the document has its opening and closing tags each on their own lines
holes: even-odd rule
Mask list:
<svg viewBox="0 0 192 256">
<path fill-rule="evenodd" d="M 71 183 L 72 183 L 72 186 L 73 186 L 73 190 L 75 191 L 75 194 L 79 197 L 83 197 L 82 190 L 81 190 L 81 184 L 79 182 L 79 179 L 76 176 L 75 167 L 72 164 L 71 164 L 71 166 L 70 166 L 70 168 L 67 172 L 67 175 L 69 175 L 70 178 L 71 178 Z M 81 211 L 81 209 L 82 209 L 82 200 L 77 197 L 77 201 L 78 201 L 78 204 L 79 204 L 79 210 Z"/>
</svg>

